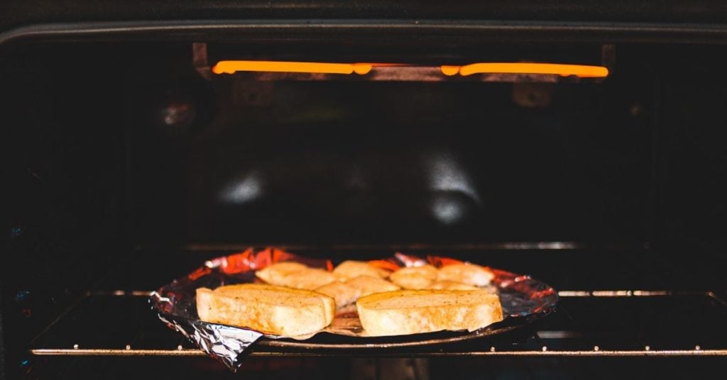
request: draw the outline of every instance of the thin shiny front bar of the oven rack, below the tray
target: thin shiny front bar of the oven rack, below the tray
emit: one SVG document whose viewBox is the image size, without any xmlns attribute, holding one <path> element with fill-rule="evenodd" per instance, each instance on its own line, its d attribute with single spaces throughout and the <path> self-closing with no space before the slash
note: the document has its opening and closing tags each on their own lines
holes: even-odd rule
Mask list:
<svg viewBox="0 0 727 380">
<path fill-rule="evenodd" d="M 645 347 L 646 348 L 646 347 Z M 199 356 L 206 357 L 204 352 L 198 349 L 31 349 L 31 354 L 39 356 Z M 258 357 L 340 357 L 340 356 L 361 356 L 359 352 L 275 352 L 256 350 L 249 354 Z M 727 356 L 727 349 L 598 349 L 598 346 L 588 350 L 553 350 L 543 347 L 542 349 L 507 351 L 494 349 L 489 351 L 468 351 L 468 352 L 389 352 L 387 350 L 372 350 L 366 352 L 371 357 L 481 357 L 481 356 L 552 356 L 552 357 L 676 357 L 676 356 Z"/>
</svg>

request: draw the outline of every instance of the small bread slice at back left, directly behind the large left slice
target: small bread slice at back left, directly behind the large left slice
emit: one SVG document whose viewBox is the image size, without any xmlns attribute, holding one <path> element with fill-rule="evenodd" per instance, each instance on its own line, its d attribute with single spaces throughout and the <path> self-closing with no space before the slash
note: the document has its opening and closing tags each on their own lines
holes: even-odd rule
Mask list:
<svg viewBox="0 0 727 380">
<path fill-rule="evenodd" d="M 297 262 L 278 262 L 255 272 L 266 283 L 288 288 L 313 290 L 336 280 L 326 270 L 313 269 Z"/>
</svg>

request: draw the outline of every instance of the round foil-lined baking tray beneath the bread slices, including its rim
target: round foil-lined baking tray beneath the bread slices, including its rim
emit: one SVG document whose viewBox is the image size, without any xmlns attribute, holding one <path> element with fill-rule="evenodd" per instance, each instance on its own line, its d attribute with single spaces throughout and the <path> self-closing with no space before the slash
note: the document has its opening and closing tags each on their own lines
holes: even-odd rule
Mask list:
<svg viewBox="0 0 727 380">
<path fill-rule="evenodd" d="M 494 336 L 526 326 L 555 309 L 558 292 L 546 283 L 505 270 L 489 267 L 494 273 L 492 290 L 502 303 L 504 320 L 476 331 L 439 331 L 404 336 L 360 336 L 360 326 L 347 329 L 324 330 L 313 336 L 281 337 L 258 331 L 208 323 L 199 320 L 196 312 L 196 289 L 217 288 L 234 283 L 257 282 L 254 272 L 275 262 L 301 262 L 310 267 L 332 270 L 331 260 L 311 259 L 278 248 L 249 248 L 244 252 L 209 260 L 183 278 L 174 280 L 153 292 L 150 303 L 167 326 L 179 331 L 197 347 L 217 358 L 233 371 L 241 365 L 250 347 L 278 347 L 290 349 L 387 349 L 431 344 L 451 344 L 471 339 Z M 444 256 L 411 256 L 396 253 L 371 263 L 382 267 L 410 267 L 433 264 L 442 267 L 460 262 Z M 358 330 L 356 330 L 358 328 Z"/>
</svg>

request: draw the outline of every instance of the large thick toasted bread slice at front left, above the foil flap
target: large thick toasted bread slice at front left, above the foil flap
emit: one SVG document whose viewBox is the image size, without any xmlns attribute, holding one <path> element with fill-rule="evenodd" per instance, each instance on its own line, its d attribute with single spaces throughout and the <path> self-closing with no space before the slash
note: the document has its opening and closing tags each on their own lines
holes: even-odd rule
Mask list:
<svg viewBox="0 0 727 380">
<path fill-rule="evenodd" d="M 281 336 L 320 331 L 331 324 L 336 309 L 334 299 L 324 294 L 252 283 L 198 288 L 196 301 L 201 320 Z"/>
</svg>

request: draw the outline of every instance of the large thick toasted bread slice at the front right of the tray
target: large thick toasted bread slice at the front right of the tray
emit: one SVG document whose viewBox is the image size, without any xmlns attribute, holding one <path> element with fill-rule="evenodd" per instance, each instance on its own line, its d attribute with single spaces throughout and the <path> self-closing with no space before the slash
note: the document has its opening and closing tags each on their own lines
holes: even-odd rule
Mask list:
<svg viewBox="0 0 727 380">
<path fill-rule="evenodd" d="M 389 291 L 361 297 L 356 307 L 368 336 L 474 331 L 502 320 L 499 297 L 483 290 Z"/>
</svg>

